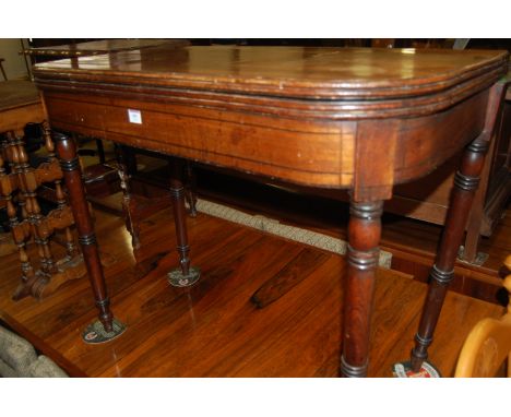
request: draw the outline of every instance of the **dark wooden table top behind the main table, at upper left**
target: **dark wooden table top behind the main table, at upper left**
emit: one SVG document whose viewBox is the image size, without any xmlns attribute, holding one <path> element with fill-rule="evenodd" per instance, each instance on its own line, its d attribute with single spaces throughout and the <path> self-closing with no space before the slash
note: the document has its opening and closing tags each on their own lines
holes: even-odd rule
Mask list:
<svg viewBox="0 0 511 417">
<path fill-rule="evenodd" d="M 116 52 L 121 50 L 142 49 L 159 45 L 183 46 L 188 44 L 189 41 L 183 39 L 103 39 L 70 45 L 27 48 L 23 52 L 26 55 L 39 57 L 83 57 L 91 55 Z"/>
</svg>

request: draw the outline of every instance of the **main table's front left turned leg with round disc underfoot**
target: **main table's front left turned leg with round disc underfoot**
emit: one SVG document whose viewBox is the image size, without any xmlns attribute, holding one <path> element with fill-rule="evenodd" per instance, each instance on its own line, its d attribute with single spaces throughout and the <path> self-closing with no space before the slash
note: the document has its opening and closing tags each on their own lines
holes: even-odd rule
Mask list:
<svg viewBox="0 0 511 417">
<path fill-rule="evenodd" d="M 99 322 L 91 324 L 83 333 L 87 343 L 100 343 L 117 337 L 124 331 L 124 325 L 114 319 L 110 311 L 109 298 L 103 275 L 103 266 L 94 234 L 94 226 L 85 200 L 85 191 L 82 181 L 76 145 L 68 136 L 55 133 L 54 140 L 57 144 L 57 153 L 68 189 L 69 202 L 74 214 L 79 242 L 82 247 L 84 262 L 88 272 L 96 307 L 99 310 Z"/>
</svg>

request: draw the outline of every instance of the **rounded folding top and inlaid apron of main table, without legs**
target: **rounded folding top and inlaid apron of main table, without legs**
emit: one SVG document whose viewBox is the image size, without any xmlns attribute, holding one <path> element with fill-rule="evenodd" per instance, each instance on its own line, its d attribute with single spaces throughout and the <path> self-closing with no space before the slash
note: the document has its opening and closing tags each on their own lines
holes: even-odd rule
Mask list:
<svg viewBox="0 0 511 417">
<path fill-rule="evenodd" d="M 476 138 L 507 69 L 496 50 L 162 45 L 34 75 L 56 129 L 372 199 Z"/>
</svg>

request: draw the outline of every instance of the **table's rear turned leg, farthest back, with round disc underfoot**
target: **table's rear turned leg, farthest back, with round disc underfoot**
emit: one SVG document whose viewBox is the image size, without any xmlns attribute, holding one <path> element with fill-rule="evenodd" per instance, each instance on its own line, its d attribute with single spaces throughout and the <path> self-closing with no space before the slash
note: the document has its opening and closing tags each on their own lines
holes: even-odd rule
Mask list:
<svg viewBox="0 0 511 417">
<path fill-rule="evenodd" d="M 176 224 L 177 251 L 180 267 L 168 273 L 168 281 L 176 287 L 187 287 L 194 284 L 200 277 L 200 270 L 190 266 L 188 253 L 188 234 L 185 208 L 185 188 L 182 186 L 182 163 L 176 159 L 171 165 L 170 198 L 173 200 L 174 222 Z"/>
</svg>

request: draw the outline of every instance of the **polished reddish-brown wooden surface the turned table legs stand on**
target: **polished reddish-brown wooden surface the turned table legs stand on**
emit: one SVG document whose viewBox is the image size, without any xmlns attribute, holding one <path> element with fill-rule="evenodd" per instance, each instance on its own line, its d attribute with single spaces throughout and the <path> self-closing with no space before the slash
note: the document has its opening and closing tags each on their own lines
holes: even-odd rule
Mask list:
<svg viewBox="0 0 511 417">
<path fill-rule="evenodd" d="M 15 254 L 0 259 L 0 319 L 72 376 L 88 377 L 334 377 L 341 344 L 342 257 L 199 214 L 188 218 L 192 264 L 202 269 L 191 288 L 174 288 L 177 265 L 171 214 L 143 222 L 143 252 L 131 252 L 123 221 L 96 211 L 96 230 L 119 338 L 91 346 L 82 329 L 95 315 L 86 279 L 67 283 L 43 301 L 11 295 L 19 279 Z M 56 251 L 60 250 L 57 245 Z M 378 274 L 369 376 L 390 377 L 408 357 L 426 285 L 412 275 Z M 277 294 L 282 283 L 286 291 Z M 251 300 L 262 286 L 259 305 Z M 272 290 L 274 288 L 274 290 Z M 264 302 L 264 297 L 272 302 Z M 450 293 L 430 350 L 451 376 L 470 329 L 502 308 Z"/>
</svg>

